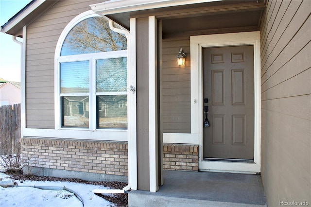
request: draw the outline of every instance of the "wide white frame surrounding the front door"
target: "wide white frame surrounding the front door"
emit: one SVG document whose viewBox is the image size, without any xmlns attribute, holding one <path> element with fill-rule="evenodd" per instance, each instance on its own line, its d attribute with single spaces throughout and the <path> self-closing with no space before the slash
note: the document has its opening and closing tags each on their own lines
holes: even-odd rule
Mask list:
<svg viewBox="0 0 311 207">
<path fill-rule="evenodd" d="M 203 160 L 203 59 L 202 48 L 253 45 L 254 47 L 254 162 Z M 191 134 L 199 138 L 199 170 L 233 173 L 260 172 L 261 98 L 260 32 L 190 36 Z"/>
</svg>

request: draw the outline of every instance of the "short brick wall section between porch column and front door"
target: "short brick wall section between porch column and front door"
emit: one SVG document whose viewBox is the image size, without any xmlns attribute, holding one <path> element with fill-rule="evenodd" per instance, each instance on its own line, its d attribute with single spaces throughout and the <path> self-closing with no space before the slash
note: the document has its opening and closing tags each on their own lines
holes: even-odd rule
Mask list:
<svg viewBox="0 0 311 207">
<path fill-rule="evenodd" d="M 199 145 L 163 144 L 163 169 L 173 171 L 199 170 Z"/>
</svg>

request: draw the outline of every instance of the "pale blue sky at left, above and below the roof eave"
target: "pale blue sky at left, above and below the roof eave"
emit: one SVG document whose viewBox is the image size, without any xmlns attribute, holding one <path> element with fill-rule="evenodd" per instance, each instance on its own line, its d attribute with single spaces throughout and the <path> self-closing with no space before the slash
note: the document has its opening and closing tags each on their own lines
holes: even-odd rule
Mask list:
<svg viewBox="0 0 311 207">
<path fill-rule="evenodd" d="M 0 0 L 0 26 L 17 14 L 31 0 Z M 21 41 L 20 38 L 18 38 Z M 12 35 L 0 33 L 0 78 L 20 82 L 21 46 Z"/>
</svg>

